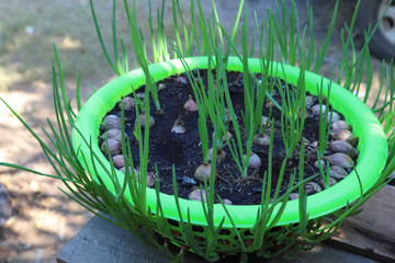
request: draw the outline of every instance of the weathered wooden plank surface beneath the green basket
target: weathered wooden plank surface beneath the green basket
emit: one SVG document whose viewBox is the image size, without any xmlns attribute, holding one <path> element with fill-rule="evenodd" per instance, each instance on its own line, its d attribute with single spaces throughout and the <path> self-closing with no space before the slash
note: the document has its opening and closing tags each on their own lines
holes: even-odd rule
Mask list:
<svg viewBox="0 0 395 263">
<path fill-rule="evenodd" d="M 250 259 L 250 262 L 395 262 L 395 187 L 385 186 L 363 207 L 360 215 L 347 219 L 336 237 L 296 259 Z M 170 262 L 170 259 L 165 252 L 147 248 L 132 233 L 93 217 L 61 250 L 57 262 L 159 263 Z M 203 261 L 190 253 L 185 262 Z M 238 262 L 238 259 L 230 258 L 226 262 Z"/>
</svg>

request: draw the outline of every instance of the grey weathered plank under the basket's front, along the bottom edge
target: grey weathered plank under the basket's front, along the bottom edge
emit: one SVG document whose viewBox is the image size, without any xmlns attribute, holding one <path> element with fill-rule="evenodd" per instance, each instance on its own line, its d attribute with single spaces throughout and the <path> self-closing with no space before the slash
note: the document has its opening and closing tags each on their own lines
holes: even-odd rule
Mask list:
<svg viewBox="0 0 395 263">
<path fill-rule="evenodd" d="M 176 250 L 173 250 L 176 252 Z M 72 240 L 57 255 L 58 263 L 161 263 L 170 262 L 170 258 L 165 253 L 153 250 L 131 232 L 127 232 L 100 217 L 93 217 Z M 271 260 L 250 256 L 250 262 L 280 262 L 280 263 L 373 263 L 374 261 L 361 255 L 352 254 L 326 244 L 318 244 L 312 251 L 303 252 L 297 258 L 285 260 L 275 258 Z M 185 255 L 184 262 L 202 262 L 202 259 L 193 253 Z M 221 262 L 239 262 L 238 256 L 229 256 Z"/>
</svg>

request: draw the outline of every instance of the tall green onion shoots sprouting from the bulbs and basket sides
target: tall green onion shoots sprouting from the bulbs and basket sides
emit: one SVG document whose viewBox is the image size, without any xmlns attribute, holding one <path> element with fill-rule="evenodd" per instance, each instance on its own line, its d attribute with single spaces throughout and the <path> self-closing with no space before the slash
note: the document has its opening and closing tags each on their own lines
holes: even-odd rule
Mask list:
<svg viewBox="0 0 395 263">
<path fill-rule="evenodd" d="M 366 81 L 366 90 L 362 100 L 365 103 L 373 101 L 371 108 L 383 124 L 384 132 L 387 135 L 388 159 L 382 176 L 370 191 L 363 192 L 362 185 L 360 185 L 361 196 L 354 203 L 347 204 L 346 207 L 330 215 L 309 218 L 306 209 L 307 194 L 304 190 L 304 184 L 321 176 L 325 186 L 328 187 L 329 170 L 324 169 L 318 161 L 319 173 L 309 178 L 306 178 L 304 174 L 306 138 L 303 138 L 302 132 L 306 114 L 305 72 L 306 70 L 316 73 L 320 72 L 335 28 L 339 0 L 335 5 L 327 36 L 321 45 L 317 45 L 313 36 L 314 21 L 312 7 L 307 3 L 308 23 L 306 27 L 301 30 L 295 2 L 291 1 L 291 4 L 285 4 L 285 0 L 279 1 L 280 4 L 275 1 L 274 11 L 267 10 L 267 13 L 263 15 L 263 22 L 259 23 L 258 14 L 255 14 L 256 30 L 252 31 L 248 26 L 247 8 L 245 8 L 244 0 L 241 0 L 232 32 L 228 34 L 218 19 L 214 0 L 212 0 L 212 19 L 205 18 L 200 0 L 191 0 L 190 21 L 185 21 L 180 8 L 180 1 L 172 0 L 173 36 L 169 36 L 167 34 L 169 30 L 165 28 L 165 0 L 156 11 L 156 23 L 154 23 L 153 18 L 153 12 L 155 11 L 151 10 L 151 5 L 148 3 L 153 61 L 160 62 L 171 58 L 179 58 L 192 85 L 192 95 L 198 103 L 198 128 L 203 153 L 202 161 L 203 165 L 210 164 L 208 176 L 204 179 L 199 190 L 205 219 L 202 226 L 195 225 L 195 221 L 190 216 L 190 210 L 188 210 L 187 217 L 183 215 L 181 198 L 177 188 L 176 167 L 172 165 L 171 168 L 173 197 L 179 216 L 176 218 L 167 218 L 163 213 L 166 204 L 161 203 L 160 198 L 160 174 L 158 169 L 148 171 L 151 167 L 148 165 L 148 151 L 151 150 L 149 149 L 149 117 L 151 116 L 149 99 L 153 99 L 157 114 L 166 113 L 162 112 L 160 106 L 156 81 L 153 72 L 149 70 L 151 61 L 148 60 L 149 56 L 147 55 L 144 34 L 137 23 L 135 1 L 132 1 L 131 4 L 131 1 L 124 0 L 123 4 L 131 31 L 133 55 L 135 57 L 134 65 L 136 67 L 139 66 L 146 77 L 143 101 L 139 102 L 135 92 L 135 89 L 139 87 L 131 87 L 131 91 L 133 91 L 136 101 L 136 116 L 143 111 L 146 114 L 146 118 L 145 125 L 143 125 L 139 118 L 136 117 L 135 138 L 128 138 L 125 136 L 125 111 L 124 108 L 122 110 L 121 148 L 124 156 L 125 173 L 123 174 L 114 168 L 111 153 L 109 155 L 109 162 L 111 164 L 109 169 L 108 164 L 99 158 L 100 153 L 93 150 L 93 145 L 98 144 L 97 138 L 84 138 L 78 129 L 76 118 L 78 111 L 82 107 L 80 79 L 77 82 L 77 111 L 75 111 L 71 101 L 66 95 L 63 69 L 55 46 L 55 62 L 53 62 L 52 69 L 56 123 L 48 121 L 49 129 L 44 129 L 45 137 L 49 139 L 48 145 L 1 99 L 32 134 L 34 139 L 40 142 L 45 156 L 54 168 L 54 174 L 42 173 L 5 162 L 0 162 L 0 165 L 16 168 L 63 181 L 66 188 L 61 191 L 66 195 L 105 220 L 109 219 L 101 213 L 111 215 L 115 220 L 109 221 L 132 231 L 147 245 L 167 251 L 174 262 L 182 261 L 183 255 L 188 251 L 193 251 L 207 261 L 214 262 L 227 254 L 234 253 L 239 253 L 241 261 L 247 261 L 249 253 L 256 253 L 264 258 L 275 256 L 281 253 L 294 256 L 298 251 L 312 249 L 317 242 L 331 237 L 348 216 L 359 213 L 359 207 L 388 182 L 386 180 L 387 176 L 395 170 L 394 64 L 393 61 L 390 65 L 383 62 L 380 91 L 376 94 L 371 92 L 372 70 L 368 44 L 377 25 L 372 25 L 371 28 L 364 32 L 365 43 L 362 49 L 358 52 L 352 39 L 356 14 L 360 5 L 360 1 L 358 1 L 350 25 L 346 24 L 345 30 L 341 31 L 343 56 L 338 64 L 339 75 L 337 77 L 332 76 L 332 81 L 343 83 L 343 87 L 356 95 L 360 94 L 362 90 L 362 81 Z M 112 16 L 110 19 L 113 54 L 109 52 L 105 45 L 92 0 L 90 0 L 90 10 L 104 57 L 114 73 L 122 76 L 129 70 L 127 54 L 131 53 L 126 53 L 123 37 L 120 37 L 121 52 L 119 50 L 115 4 L 116 1 L 113 0 Z M 309 34 L 309 39 L 306 38 L 307 34 Z M 258 45 L 255 45 L 255 39 L 257 39 Z M 187 58 L 193 56 L 207 57 L 206 87 L 203 83 L 199 69 L 189 67 Z M 226 78 L 229 56 L 236 56 L 242 64 L 245 101 L 241 119 L 237 118 Z M 251 56 L 260 58 L 261 72 L 259 76 L 249 68 L 249 58 Z M 280 81 L 270 77 L 274 71 L 271 61 L 274 60 L 280 62 L 279 68 L 283 71 L 285 64 L 297 65 L 300 67 L 298 81 L 294 87 L 287 84 L 286 78 Z M 281 98 L 280 103 L 273 99 L 275 88 Z M 325 147 L 328 142 L 332 115 L 329 110 L 330 93 L 324 94 L 323 84 L 317 87 L 317 96 L 320 106 L 317 159 L 320 160 L 324 157 Z M 323 96 L 326 98 L 325 102 Z M 270 102 L 271 106 L 269 110 L 269 121 L 266 125 L 262 125 L 264 102 Z M 326 105 L 325 110 L 323 110 L 324 105 Z M 272 114 L 274 111 L 281 113 L 281 135 L 285 148 L 284 160 L 278 174 L 273 172 L 275 119 L 272 117 Z M 208 135 L 210 125 L 214 129 L 213 136 Z M 226 136 L 230 127 L 235 133 L 233 138 Z M 71 130 L 83 138 L 83 144 L 90 149 L 90 155 L 82 153 L 79 148 L 72 145 Z M 239 175 L 248 179 L 250 172 L 248 163 L 252 152 L 253 137 L 257 134 L 269 134 L 270 137 L 268 161 L 266 163 L 268 169 L 262 175 L 261 203 L 256 215 L 256 224 L 251 228 L 246 229 L 235 224 L 234 215 L 228 209 L 229 206 L 225 205 L 224 199 L 216 195 L 214 187 L 215 174 L 218 155 L 227 147 L 232 153 L 232 157 L 228 158 L 233 158 L 240 172 Z M 223 141 L 223 137 L 225 137 L 226 142 Z M 131 141 L 133 139 L 138 141 L 138 164 L 133 163 L 133 160 L 136 159 L 132 155 L 131 149 Z M 105 142 L 108 144 L 108 141 Z M 210 161 L 208 148 L 211 144 L 213 151 Z M 298 165 L 289 172 L 286 171 L 287 162 L 294 157 L 298 160 Z M 89 163 L 93 163 L 93 165 Z M 103 170 L 104 174 L 99 173 L 99 170 Z M 147 176 L 149 173 L 155 173 L 159 179 L 155 183 L 155 193 L 157 195 L 156 209 L 150 208 L 146 198 Z M 359 176 L 358 171 L 356 173 Z M 286 185 L 285 193 L 282 193 L 281 187 L 286 174 L 290 174 L 290 183 Z M 110 191 L 109 185 L 104 184 L 104 176 L 110 178 L 111 187 L 114 191 Z M 272 186 L 274 179 L 278 182 L 275 187 Z M 298 194 L 298 221 L 278 226 L 276 224 L 283 215 L 292 193 Z M 214 220 L 216 213 L 215 202 L 222 204 L 226 214 L 219 222 Z M 225 220 L 230 221 L 230 228 L 224 227 Z M 202 228 L 203 231 L 196 231 L 199 228 Z M 226 236 L 224 232 L 229 232 L 230 235 Z M 232 238 L 229 238 L 230 236 Z M 172 253 L 170 244 L 176 244 L 179 248 L 178 254 Z"/>
</svg>

